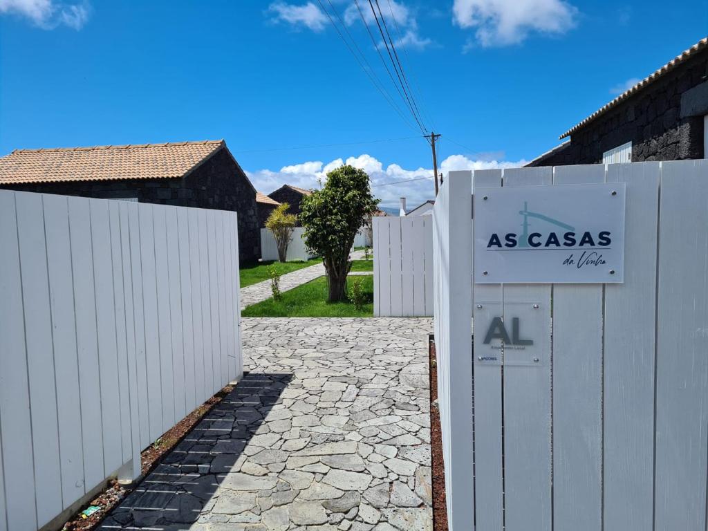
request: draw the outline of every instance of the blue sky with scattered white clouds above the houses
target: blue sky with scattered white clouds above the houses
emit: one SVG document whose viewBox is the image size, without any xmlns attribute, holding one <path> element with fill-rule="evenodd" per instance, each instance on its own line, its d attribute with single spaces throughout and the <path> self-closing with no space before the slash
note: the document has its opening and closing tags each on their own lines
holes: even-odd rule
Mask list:
<svg viewBox="0 0 708 531">
<path fill-rule="evenodd" d="M 353 2 L 331 1 L 322 4 L 403 108 Z M 705 0 L 379 4 L 423 125 L 442 134 L 442 171 L 534 158 L 708 33 Z M 349 161 L 370 172 L 384 204 L 406 195 L 415 205 L 433 195 L 432 181 L 412 181 L 432 167 L 420 135 L 318 0 L 0 0 L 2 155 L 224 138 L 265 193 L 314 186 Z M 317 147 L 282 149 L 302 146 Z M 410 182 L 382 186 L 397 181 Z"/>
</svg>

